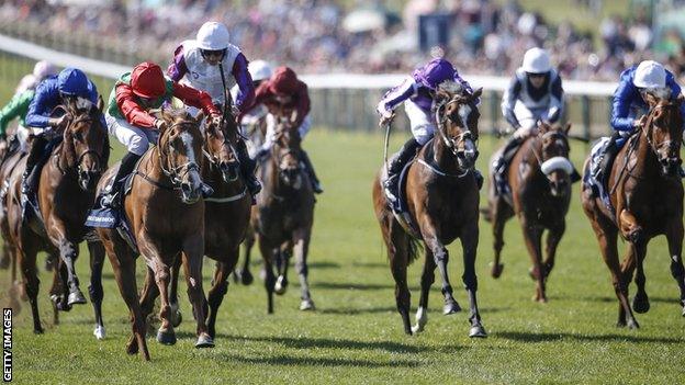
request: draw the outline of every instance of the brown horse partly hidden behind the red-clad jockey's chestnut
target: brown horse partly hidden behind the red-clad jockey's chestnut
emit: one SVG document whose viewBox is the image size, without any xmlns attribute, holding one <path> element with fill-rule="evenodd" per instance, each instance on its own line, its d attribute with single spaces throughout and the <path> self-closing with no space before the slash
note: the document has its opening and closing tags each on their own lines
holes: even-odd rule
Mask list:
<svg viewBox="0 0 685 385">
<path fill-rule="evenodd" d="M 216 315 L 228 291 L 228 275 L 238 261 L 240 242 L 250 220 L 252 199 L 240 174 L 235 150 L 238 139 L 235 121 L 226 120 L 223 129 L 207 124 L 203 134 L 202 151 L 207 162 L 202 178 L 214 189 L 214 194 L 204 200 L 204 253 L 216 261 L 212 288 L 207 295 L 207 329 L 214 338 Z M 177 296 L 179 267 L 180 261 L 172 270 L 169 293 L 173 326 L 181 321 Z"/>
</svg>

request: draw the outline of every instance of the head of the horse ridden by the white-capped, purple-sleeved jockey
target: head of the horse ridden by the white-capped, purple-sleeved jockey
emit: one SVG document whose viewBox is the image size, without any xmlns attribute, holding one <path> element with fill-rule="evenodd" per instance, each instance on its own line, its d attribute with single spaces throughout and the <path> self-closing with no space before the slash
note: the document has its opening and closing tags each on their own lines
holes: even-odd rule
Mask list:
<svg viewBox="0 0 685 385">
<path fill-rule="evenodd" d="M 210 161 L 210 167 L 217 167 L 225 182 L 233 182 L 240 174 L 240 163 L 235 150 L 237 140 L 237 126 L 235 121 L 227 118 L 224 127 L 207 120 L 203 133 L 204 155 Z"/>
</svg>

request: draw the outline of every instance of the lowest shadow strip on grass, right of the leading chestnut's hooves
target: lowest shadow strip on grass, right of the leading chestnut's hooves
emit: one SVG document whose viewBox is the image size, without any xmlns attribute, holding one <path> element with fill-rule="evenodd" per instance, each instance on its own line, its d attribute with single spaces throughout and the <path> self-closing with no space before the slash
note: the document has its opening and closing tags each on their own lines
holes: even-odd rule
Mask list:
<svg viewBox="0 0 685 385">
<path fill-rule="evenodd" d="M 273 356 L 242 356 L 234 354 L 218 354 L 222 361 L 237 361 L 258 365 L 285 365 L 285 366 L 355 366 L 355 367 L 417 367 L 418 361 L 390 361 L 375 362 L 368 360 L 350 360 L 335 358 L 292 356 L 278 354 Z"/>
</svg>

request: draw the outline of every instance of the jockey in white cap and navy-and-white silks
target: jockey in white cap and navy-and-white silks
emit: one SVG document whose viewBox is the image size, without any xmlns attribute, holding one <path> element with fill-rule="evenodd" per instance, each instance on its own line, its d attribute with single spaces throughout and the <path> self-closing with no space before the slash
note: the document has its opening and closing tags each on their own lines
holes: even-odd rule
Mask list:
<svg viewBox="0 0 685 385">
<path fill-rule="evenodd" d="M 561 77 L 552 68 L 549 53 L 537 47 L 528 49 L 502 98 L 502 114 L 515 131 L 493 165 L 498 188 L 506 183 L 504 173 L 518 146 L 538 134 L 538 121 L 552 124 L 561 118 L 563 98 Z M 577 173 L 572 178 L 577 180 Z"/>
</svg>

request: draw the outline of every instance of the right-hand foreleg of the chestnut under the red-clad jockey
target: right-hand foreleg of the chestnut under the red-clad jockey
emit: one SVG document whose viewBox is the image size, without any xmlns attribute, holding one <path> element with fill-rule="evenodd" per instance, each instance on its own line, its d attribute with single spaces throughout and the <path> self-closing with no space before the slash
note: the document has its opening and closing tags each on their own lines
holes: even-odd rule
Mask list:
<svg viewBox="0 0 685 385">
<path fill-rule="evenodd" d="M 202 288 L 202 259 L 204 258 L 203 233 L 192 236 L 183 245 L 183 270 L 188 283 L 188 298 L 195 315 L 196 336 L 195 348 L 213 348 L 214 340 L 210 337 L 206 326 L 206 297 Z M 162 301 L 166 301 L 166 288 L 159 287 Z"/>
</svg>

